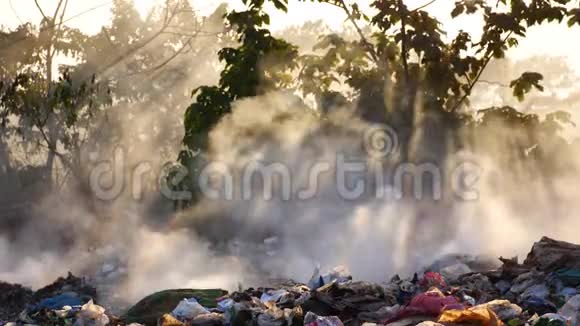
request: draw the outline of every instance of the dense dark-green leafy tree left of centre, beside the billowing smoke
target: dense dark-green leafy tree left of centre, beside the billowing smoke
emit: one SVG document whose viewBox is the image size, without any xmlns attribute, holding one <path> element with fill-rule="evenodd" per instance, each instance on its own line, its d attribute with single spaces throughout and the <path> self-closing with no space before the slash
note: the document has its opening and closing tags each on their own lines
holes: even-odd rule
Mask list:
<svg viewBox="0 0 580 326">
<path fill-rule="evenodd" d="M 219 59 L 225 64 L 219 85 L 202 86 L 193 93 L 196 101 L 185 114 L 184 138 L 192 150 L 207 149 L 207 134 L 231 111 L 233 101 L 284 87 L 290 79 L 287 71 L 296 67 L 297 48 L 263 28 L 270 22 L 269 15 L 261 10 L 263 1 L 249 4 L 249 10 L 226 16 L 239 46 L 219 51 Z M 284 8 L 281 2 L 275 4 Z M 186 154 L 182 153 L 182 162 L 183 155 Z"/>
</svg>

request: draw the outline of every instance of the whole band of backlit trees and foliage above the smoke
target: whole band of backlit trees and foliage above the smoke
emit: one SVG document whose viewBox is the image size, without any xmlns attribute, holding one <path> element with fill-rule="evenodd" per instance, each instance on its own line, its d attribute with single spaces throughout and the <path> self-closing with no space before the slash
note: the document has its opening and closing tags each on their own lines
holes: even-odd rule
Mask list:
<svg viewBox="0 0 580 326">
<path fill-rule="evenodd" d="M 483 18 L 477 39 L 465 31 L 447 37 L 425 6 L 409 8 L 403 0 L 375 0 L 368 13 L 352 1 L 308 1 L 344 11 L 356 37 L 322 35 L 301 55 L 268 29 L 264 7 L 286 11 L 287 0 L 243 0 L 245 11 L 220 7 L 207 19 L 186 0 L 169 0 L 144 18 L 130 1 L 115 0 L 111 24 L 88 36 L 64 24 L 66 1 L 60 0 L 52 16 L 42 12 L 38 26 L 0 31 L 0 157 L 19 137 L 44 160 L 48 175 L 55 157 L 80 175 L 84 145 L 104 151 L 128 139 L 127 147 L 138 151 L 149 137 L 170 156 L 182 138 L 179 161 L 195 168 L 194 154 L 210 149 L 209 133 L 235 101 L 277 89 L 315 98 L 322 115 L 352 106 L 363 119 L 391 125 L 402 159 L 409 159 L 418 117 L 434 117 L 436 128 L 459 138 L 458 146 L 476 143 L 487 128 L 507 126 L 498 141 L 517 139 L 526 157 L 560 141 L 572 123 L 562 111 L 542 118 L 509 105 L 477 110 L 470 102 L 482 76 L 530 27 L 580 25 L 580 9 L 570 0 L 457 0 L 452 17 Z M 76 63 L 56 67 L 56 57 Z M 204 77 L 206 69 L 221 69 L 219 78 Z M 551 79 L 544 81 L 546 73 L 510 76 L 505 89 L 525 101 L 544 90 Z M 121 127 L 153 113 L 163 119 Z"/>
</svg>

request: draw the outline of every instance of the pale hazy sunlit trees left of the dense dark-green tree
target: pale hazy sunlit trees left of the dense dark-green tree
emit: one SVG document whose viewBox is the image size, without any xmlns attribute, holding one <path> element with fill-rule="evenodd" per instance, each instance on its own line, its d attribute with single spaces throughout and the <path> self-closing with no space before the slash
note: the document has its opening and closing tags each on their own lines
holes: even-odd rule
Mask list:
<svg viewBox="0 0 580 326">
<path fill-rule="evenodd" d="M 66 26 L 66 5 L 39 28 L 0 34 L 2 156 L 10 165 L 42 158 L 43 179 L 59 187 L 86 183 L 88 153 L 109 157 L 115 146 L 136 160 L 155 144 L 160 161 L 174 158 L 184 103 L 195 84 L 213 81 L 212 54 L 230 43 L 224 7 L 199 17 L 188 1 L 171 0 L 142 19 L 132 1 L 117 0 L 111 24 L 87 36 Z M 76 62 L 57 68 L 62 57 Z M 20 151 L 26 162 L 10 157 Z"/>
</svg>

